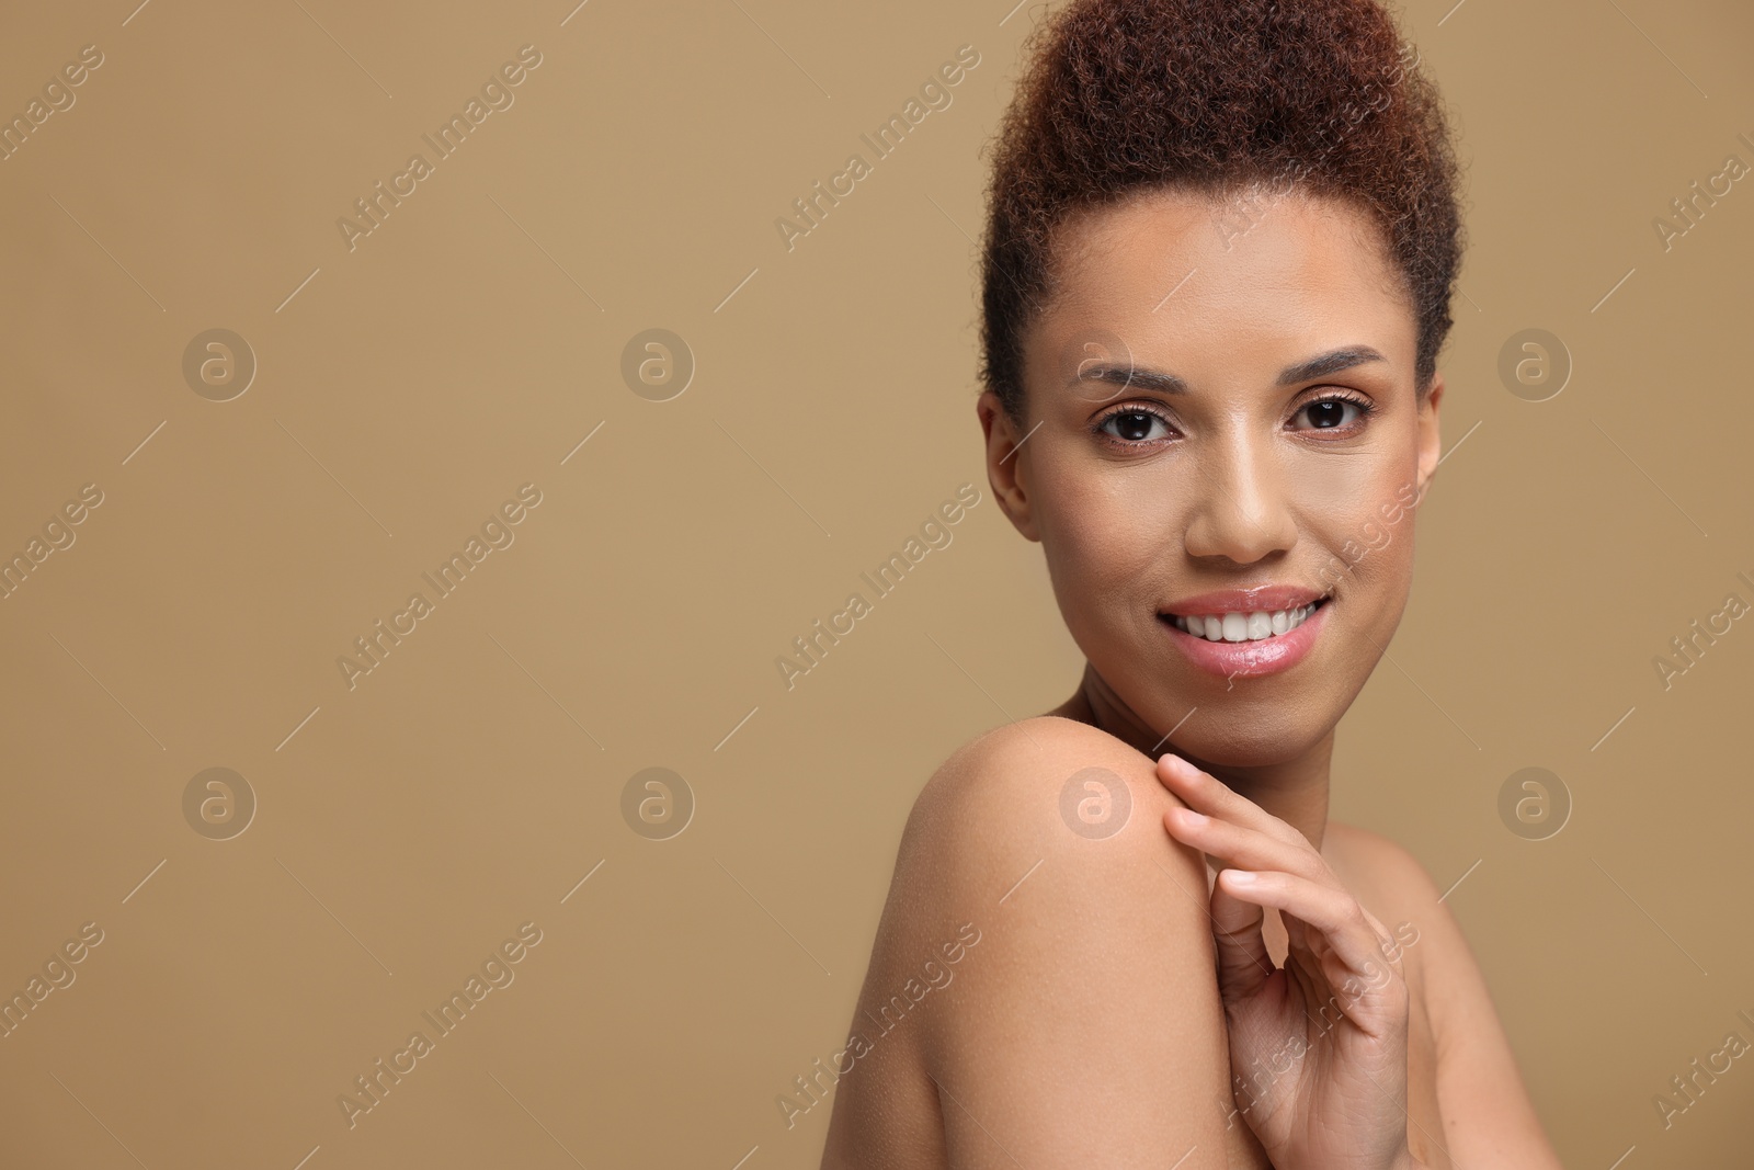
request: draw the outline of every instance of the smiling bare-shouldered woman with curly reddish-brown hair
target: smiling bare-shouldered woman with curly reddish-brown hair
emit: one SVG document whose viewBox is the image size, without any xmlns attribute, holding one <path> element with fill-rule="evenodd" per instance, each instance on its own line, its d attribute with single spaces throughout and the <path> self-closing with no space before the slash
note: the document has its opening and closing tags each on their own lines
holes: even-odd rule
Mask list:
<svg viewBox="0 0 1754 1170">
<path fill-rule="evenodd" d="M 1437 93 L 1372 0 L 1030 51 L 977 414 L 1087 665 L 921 791 L 823 1165 L 1554 1168 L 1431 879 L 1328 819 L 1440 458 Z"/>
</svg>

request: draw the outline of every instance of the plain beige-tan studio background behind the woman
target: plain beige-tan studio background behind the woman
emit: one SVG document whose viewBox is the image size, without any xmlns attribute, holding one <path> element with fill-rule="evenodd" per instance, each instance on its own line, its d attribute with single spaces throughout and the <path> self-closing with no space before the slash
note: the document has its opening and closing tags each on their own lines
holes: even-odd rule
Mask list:
<svg viewBox="0 0 1754 1170">
<path fill-rule="evenodd" d="M 814 1166 L 828 1109 L 788 1131 L 775 1096 L 845 1038 L 916 791 L 1080 667 L 972 409 L 977 151 L 1040 5 L 133 2 L 0 35 L 7 116 L 103 53 L 0 161 L 0 553 L 103 493 L 0 602 L 0 988 L 103 931 L 0 1040 L 0 1163 Z M 1652 219 L 1754 163 L 1754 14 L 1449 4 L 1403 18 L 1470 160 L 1463 446 L 1333 816 L 1465 879 L 1568 1166 L 1745 1166 L 1754 1063 L 1666 1131 L 1652 1096 L 1754 1040 L 1754 626 L 1668 691 L 1652 658 L 1754 600 L 1754 189 L 1666 253 Z M 524 44 L 516 103 L 349 251 L 337 218 Z M 952 105 L 788 253 L 775 218 L 963 44 Z M 1496 374 L 1529 326 L 1575 361 L 1540 403 Z M 210 328 L 260 367 L 230 402 L 182 377 Z M 670 402 L 621 377 L 647 328 L 698 367 Z M 970 481 L 788 691 L 775 656 Z M 526 482 L 516 542 L 349 689 L 337 658 Z M 696 800 L 661 842 L 621 816 L 658 765 Z M 1496 810 L 1531 765 L 1575 802 L 1542 842 Z M 184 819 L 210 767 L 258 800 L 230 840 Z M 337 1096 L 528 921 L 516 981 L 349 1128 Z"/>
</svg>

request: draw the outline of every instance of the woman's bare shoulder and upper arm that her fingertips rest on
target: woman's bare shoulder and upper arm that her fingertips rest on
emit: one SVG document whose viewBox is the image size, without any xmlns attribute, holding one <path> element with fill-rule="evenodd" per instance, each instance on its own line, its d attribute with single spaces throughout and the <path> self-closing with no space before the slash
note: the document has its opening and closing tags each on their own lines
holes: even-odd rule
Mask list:
<svg viewBox="0 0 1754 1170">
<path fill-rule="evenodd" d="M 1109 819 L 1093 777 L 1063 812 L 1084 768 Z M 1226 1165 L 1205 861 L 1165 831 L 1173 803 L 1145 756 L 1063 719 L 979 740 L 921 795 L 886 919 L 980 931 L 923 1021 L 951 1166 Z"/>
</svg>

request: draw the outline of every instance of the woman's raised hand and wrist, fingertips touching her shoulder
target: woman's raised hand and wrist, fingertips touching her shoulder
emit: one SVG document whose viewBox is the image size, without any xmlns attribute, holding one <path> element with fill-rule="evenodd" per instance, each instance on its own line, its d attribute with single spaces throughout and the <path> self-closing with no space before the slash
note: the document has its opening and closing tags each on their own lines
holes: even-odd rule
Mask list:
<svg viewBox="0 0 1754 1170">
<path fill-rule="evenodd" d="M 1158 779 L 1189 805 L 1165 814 L 1170 835 L 1226 867 L 1212 935 L 1231 1089 L 1266 1156 L 1279 1170 L 1412 1165 L 1408 996 L 1393 937 L 1303 833 L 1179 756 L 1158 760 Z M 1286 926 L 1277 970 L 1263 907 Z"/>
</svg>

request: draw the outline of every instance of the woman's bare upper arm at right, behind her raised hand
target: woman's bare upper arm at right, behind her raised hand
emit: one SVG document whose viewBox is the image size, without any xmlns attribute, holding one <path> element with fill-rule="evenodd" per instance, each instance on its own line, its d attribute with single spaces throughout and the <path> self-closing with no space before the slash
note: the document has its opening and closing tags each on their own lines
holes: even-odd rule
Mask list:
<svg viewBox="0 0 1754 1170">
<path fill-rule="evenodd" d="M 1563 1170 L 1456 916 L 1412 854 L 1386 838 L 1375 840 L 1419 930 L 1415 949 L 1437 1040 L 1437 1095 L 1451 1159 L 1458 1166 Z"/>
</svg>

